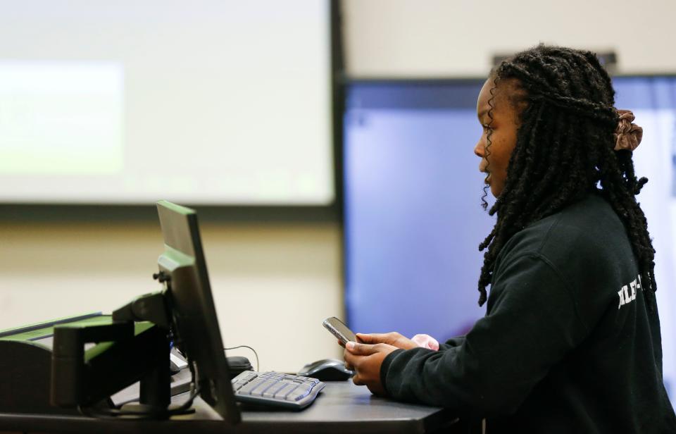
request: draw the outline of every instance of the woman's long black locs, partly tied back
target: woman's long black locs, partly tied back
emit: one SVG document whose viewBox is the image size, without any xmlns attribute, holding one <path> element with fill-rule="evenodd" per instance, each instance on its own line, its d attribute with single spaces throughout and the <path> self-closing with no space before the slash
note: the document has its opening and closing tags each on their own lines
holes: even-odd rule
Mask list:
<svg viewBox="0 0 676 434">
<path fill-rule="evenodd" d="M 599 59 L 590 51 L 539 45 L 506 59 L 490 77 L 490 119 L 501 80 L 516 79 L 522 92 L 510 98 L 523 109 L 504 188 L 489 209 L 497 220 L 479 245 L 480 251 L 486 250 L 479 305 L 486 302 L 496 258 L 511 235 L 599 191 L 625 225 L 652 309 L 655 250 L 635 197 L 648 180 L 634 174 L 632 151 L 613 150 L 619 116 L 611 77 Z M 487 154 L 490 144 L 489 130 Z"/>
</svg>

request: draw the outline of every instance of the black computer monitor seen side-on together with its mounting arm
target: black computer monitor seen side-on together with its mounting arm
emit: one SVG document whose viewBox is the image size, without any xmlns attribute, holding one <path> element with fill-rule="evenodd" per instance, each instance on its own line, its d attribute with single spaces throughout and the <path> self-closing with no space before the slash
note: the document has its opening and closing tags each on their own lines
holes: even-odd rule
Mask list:
<svg viewBox="0 0 676 434">
<path fill-rule="evenodd" d="M 157 202 L 164 238 L 154 278 L 165 285 L 113 311 L 111 323 L 54 328 L 51 404 L 92 416 L 165 418 L 187 411 L 199 392 L 225 421 L 237 423 L 223 340 L 192 209 Z M 99 345 L 85 349 L 85 345 Z M 177 409 L 170 404 L 169 351 L 187 357 L 196 389 Z M 101 409 L 115 392 L 140 381 L 140 411 Z"/>
</svg>

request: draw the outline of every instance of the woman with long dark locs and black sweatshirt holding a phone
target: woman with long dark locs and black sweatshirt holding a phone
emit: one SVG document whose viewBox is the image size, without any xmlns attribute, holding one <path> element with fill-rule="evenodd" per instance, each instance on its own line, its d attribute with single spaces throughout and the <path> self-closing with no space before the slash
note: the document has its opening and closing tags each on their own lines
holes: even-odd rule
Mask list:
<svg viewBox="0 0 676 434">
<path fill-rule="evenodd" d="M 438 351 L 358 335 L 344 353 L 354 383 L 486 418 L 491 434 L 676 433 L 635 197 L 641 129 L 614 94 L 589 51 L 537 46 L 495 68 L 474 149 L 496 197 L 480 245 L 486 316 Z"/>
</svg>

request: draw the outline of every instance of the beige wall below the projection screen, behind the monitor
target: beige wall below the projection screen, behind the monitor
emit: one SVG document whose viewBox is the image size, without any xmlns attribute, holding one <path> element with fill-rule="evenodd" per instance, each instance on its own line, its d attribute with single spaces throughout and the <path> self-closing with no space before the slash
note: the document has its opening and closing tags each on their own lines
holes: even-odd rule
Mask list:
<svg viewBox="0 0 676 434">
<path fill-rule="evenodd" d="M 249 345 L 261 369 L 277 371 L 340 356 L 321 325 L 343 312 L 336 224 L 201 229 L 225 345 Z M 151 278 L 163 249 L 158 223 L 2 223 L 0 240 L 0 329 L 110 312 L 159 289 Z M 229 354 L 253 363 L 247 351 Z"/>
</svg>

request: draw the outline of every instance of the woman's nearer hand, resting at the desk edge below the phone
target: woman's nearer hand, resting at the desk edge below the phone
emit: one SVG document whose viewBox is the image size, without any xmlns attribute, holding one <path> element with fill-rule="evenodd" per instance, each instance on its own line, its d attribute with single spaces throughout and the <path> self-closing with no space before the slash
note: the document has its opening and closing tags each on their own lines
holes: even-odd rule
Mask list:
<svg viewBox="0 0 676 434">
<path fill-rule="evenodd" d="M 390 334 L 391 333 L 387 333 L 387 335 Z M 396 334 L 399 335 L 399 333 Z M 362 340 L 364 336 L 370 335 L 358 335 Z M 404 337 L 404 339 L 406 338 Z M 415 347 L 417 347 L 417 345 L 414 344 L 413 348 Z M 347 342 L 343 357 L 346 364 L 353 366 L 354 371 L 356 371 L 355 376 L 352 378 L 353 383 L 356 385 L 365 385 L 373 395 L 386 395 L 385 389 L 382 386 L 382 383 L 380 383 L 380 366 L 387 354 L 393 352 L 395 349 L 397 349 L 397 347 L 384 343 L 370 345 Z"/>
</svg>

